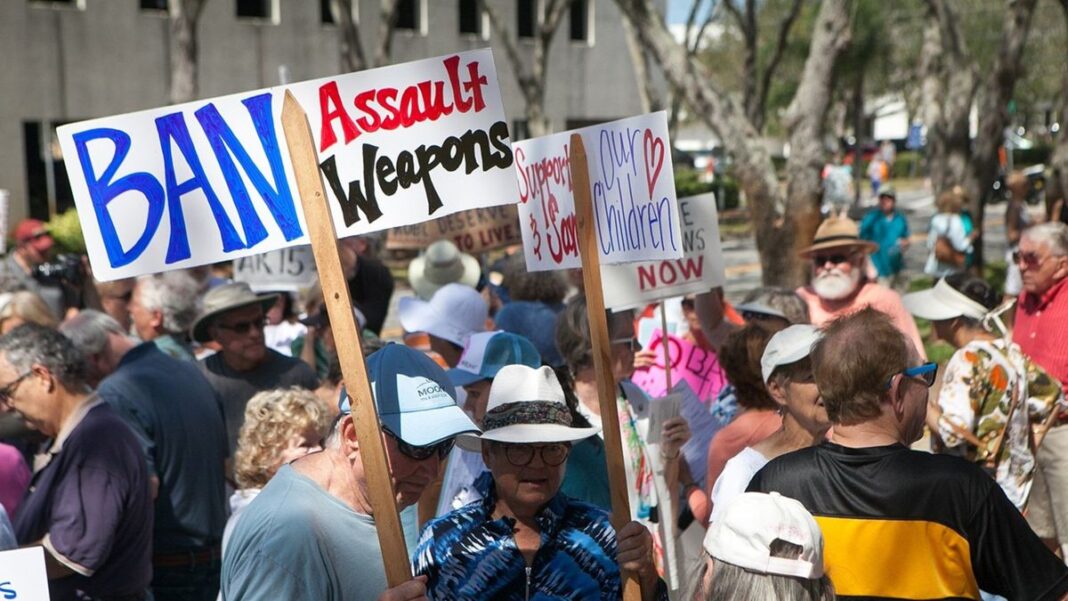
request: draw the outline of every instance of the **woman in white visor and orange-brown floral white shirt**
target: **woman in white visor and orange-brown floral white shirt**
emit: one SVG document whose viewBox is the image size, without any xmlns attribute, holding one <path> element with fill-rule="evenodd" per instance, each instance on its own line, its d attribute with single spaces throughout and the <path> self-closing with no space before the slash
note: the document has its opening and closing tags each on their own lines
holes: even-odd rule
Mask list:
<svg viewBox="0 0 1068 601">
<path fill-rule="evenodd" d="M 1001 314 L 1011 302 L 1001 305 L 1001 295 L 985 281 L 955 273 L 902 300 L 957 349 L 928 406 L 928 427 L 944 453 L 983 465 L 1022 510 L 1035 475 L 1034 448 L 1054 405 L 1064 400 L 1061 384 L 1006 335 Z"/>
</svg>

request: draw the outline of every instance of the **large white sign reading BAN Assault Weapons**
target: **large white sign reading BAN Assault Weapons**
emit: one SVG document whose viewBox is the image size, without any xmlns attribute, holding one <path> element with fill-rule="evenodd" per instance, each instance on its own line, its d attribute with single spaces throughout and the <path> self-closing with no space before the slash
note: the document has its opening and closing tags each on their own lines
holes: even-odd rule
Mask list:
<svg viewBox="0 0 1068 601">
<path fill-rule="evenodd" d="M 308 113 L 339 236 L 516 197 L 488 49 L 93 120 L 59 137 L 94 275 L 308 243 L 285 90 Z"/>
</svg>

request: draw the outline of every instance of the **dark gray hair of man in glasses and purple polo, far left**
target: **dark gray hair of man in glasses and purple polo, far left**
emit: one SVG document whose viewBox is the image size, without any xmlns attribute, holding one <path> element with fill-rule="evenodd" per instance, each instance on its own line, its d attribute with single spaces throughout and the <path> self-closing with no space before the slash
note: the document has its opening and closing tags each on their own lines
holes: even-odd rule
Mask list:
<svg viewBox="0 0 1068 601">
<path fill-rule="evenodd" d="M 41 365 L 68 391 L 80 392 L 87 388 L 84 355 L 69 338 L 52 328 L 36 323 L 15 328 L 0 336 L 0 355 L 19 374 Z"/>
</svg>

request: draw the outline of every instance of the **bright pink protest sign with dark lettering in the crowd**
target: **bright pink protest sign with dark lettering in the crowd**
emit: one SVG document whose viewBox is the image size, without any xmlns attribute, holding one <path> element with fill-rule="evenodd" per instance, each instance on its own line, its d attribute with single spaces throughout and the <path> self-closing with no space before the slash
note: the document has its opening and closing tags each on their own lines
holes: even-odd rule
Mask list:
<svg viewBox="0 0 1068 601">
<path fill-rule="evenodd" d="M 659 331 L 654 332 L 649 350 L 656 353 L 653 365 L 639 369 L 630 378 L 649 396 L 668 394 L 668 379 L 664 366 L 664 337 Z M 697 345 L 688 343 L 677 336 L 668 336 L 668 351 L 671 355 L 671 373 L 676 382 L 685 381 L 696 393 L 702 402 L 714 399 L 720 389 L 726 383 L 726 375 L 720 366 L 720 360 L 714 352 L 705 350 Z"/>
</svg>

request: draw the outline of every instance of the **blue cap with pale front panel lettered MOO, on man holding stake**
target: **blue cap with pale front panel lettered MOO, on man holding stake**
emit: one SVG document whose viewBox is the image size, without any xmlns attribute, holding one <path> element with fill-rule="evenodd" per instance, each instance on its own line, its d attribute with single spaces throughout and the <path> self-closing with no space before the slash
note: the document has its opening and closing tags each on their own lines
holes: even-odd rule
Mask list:
<svg viewBox="0 0 1068 601">
<path fill-rule="evenodd" d="M 367 358 L 367 378 L 382 428 L 412 446 L 428 446 L 461 433 L 478 433 L 456 406 L 455 388 L 444 369 L 412 348 L 390 344 Z M 342 389 L 337 408 L 351 411 Z"/>
</svg>

